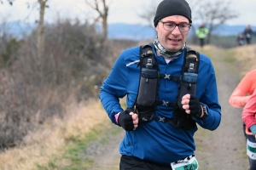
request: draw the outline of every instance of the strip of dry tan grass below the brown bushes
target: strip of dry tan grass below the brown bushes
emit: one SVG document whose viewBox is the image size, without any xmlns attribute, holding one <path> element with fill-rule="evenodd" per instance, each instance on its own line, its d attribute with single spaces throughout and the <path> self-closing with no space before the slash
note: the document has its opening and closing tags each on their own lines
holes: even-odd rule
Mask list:
<svg viewBox="0 0 256 170">
<path fill-rule="evenodd" d="M 88 105 L 70 105 L 69 115 L 64 120 L 55 119 L 52 127 L 46 123 L 37 133 L 26 137 L 26 145 L 0 154 L 0 169 L 32 170 L 36 164 L 46 165 L 50 156 L 65 152 L 65 139 L 79 138 L 80 134 L 90 131 L 98 123 L 106 122 L 108 116 L 98 101 Z"/>
</svg>

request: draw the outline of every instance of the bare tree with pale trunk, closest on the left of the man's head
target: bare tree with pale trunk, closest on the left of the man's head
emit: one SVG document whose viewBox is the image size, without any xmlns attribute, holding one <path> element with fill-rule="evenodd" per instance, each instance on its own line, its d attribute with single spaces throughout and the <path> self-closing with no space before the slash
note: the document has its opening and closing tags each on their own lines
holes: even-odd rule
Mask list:
<svg viewBox="0 0 256 170">
<path fill-rule="evenodd" d="M 103 38 L 106 39 L 108 37 L 108 5 L 106 4 L 106 0 L 94 0 L 94 4 L 90 3 L 89 0 L 85 0 L 85 2 L 96 12 L 99 14 L 98 17 L 94 20 L 94 23 L 98 22 L 100 19 L 102 20 L 102 30 L 103 30 Z M 100 8 L 102 6 L 102 9 Z"/>
</svg>

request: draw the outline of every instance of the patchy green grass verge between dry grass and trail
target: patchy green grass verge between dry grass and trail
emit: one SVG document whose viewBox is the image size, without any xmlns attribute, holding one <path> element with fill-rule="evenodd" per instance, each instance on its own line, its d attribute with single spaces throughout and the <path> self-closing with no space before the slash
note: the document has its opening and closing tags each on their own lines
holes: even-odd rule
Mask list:
<svg viewBox="0 0 256 170">
<path fill-rule="evenodd" d="M 118 129 L 111 128 L 110 123 L 99 123 L 82 138 L 77 136 L 66 139 L 65 153 L 61 156 L 51 156 L 46 165 L 37 164 L 38 170 L 75 170 L 93 167 L 94 160 L 90 157 L 90 153 L 87 153 L 88 146 L 96 141 L 107 143 L 108 134 L 119 133 Z"/>
</svg>

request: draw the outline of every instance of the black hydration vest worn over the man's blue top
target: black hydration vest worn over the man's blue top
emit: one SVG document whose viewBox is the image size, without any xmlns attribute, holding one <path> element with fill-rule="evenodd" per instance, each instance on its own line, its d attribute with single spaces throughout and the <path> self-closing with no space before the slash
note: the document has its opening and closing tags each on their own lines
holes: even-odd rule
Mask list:
<svg viewBox="0 0 256 170">
<path fill-rule="evenodd" d="M 162 75 L 159 72 L 157 59 L 153 52 L 153 44 L 148 43 L 141 46 L 140 49 L 140 82 L 138 87 L 137 99 L 132 110 L 137 112 L 139 123 L 151 121 L 168 122 L 172 126 L 189 130 L 195 127 L 194 117 L 187 114 L 181 105 L 181 99 L 184 94 L 194 94 L 196 90 L 196 80 L 199 68 L 200 54 L 194 49 L 187 47 L 184 54 L 184 63 L 180 77 L 172 75 Z M 192 76 L 191 76 L 192 75 Z M 176 101 L 158 100 L 158 91 L 160 78 L 169 79 L 179 83 Z M 173 107 L 174 117 L 156 117 L 154 111 L 157 105 Z"/>
</svg>

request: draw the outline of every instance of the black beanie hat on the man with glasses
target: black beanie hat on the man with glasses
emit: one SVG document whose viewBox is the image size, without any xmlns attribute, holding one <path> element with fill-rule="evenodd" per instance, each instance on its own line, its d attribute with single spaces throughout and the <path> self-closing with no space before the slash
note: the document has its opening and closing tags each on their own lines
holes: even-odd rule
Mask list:
<svg viewBox="0 0 256 170">
<path fill-rule="evenodd" d="M 172 15 L 182 15 L 192 23 L 191 9 L 185 0 L 163 0 L 157 7 L 154 16 L 154 27 L 159 20 Z"/>
</svg>

